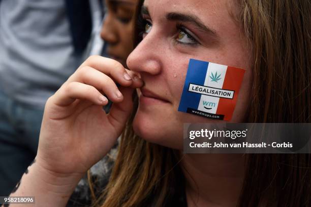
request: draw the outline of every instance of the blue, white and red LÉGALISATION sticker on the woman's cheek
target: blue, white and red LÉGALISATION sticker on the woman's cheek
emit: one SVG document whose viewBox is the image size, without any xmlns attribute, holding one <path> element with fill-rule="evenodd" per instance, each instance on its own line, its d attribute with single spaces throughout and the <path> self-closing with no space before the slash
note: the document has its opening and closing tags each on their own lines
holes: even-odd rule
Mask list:
<svg viewBox="0 0 311 207">
<path fill-rule="evenodd" d="M 244 69 L 190 59 L 178 111 L 231 120 Z"/>
</svg>

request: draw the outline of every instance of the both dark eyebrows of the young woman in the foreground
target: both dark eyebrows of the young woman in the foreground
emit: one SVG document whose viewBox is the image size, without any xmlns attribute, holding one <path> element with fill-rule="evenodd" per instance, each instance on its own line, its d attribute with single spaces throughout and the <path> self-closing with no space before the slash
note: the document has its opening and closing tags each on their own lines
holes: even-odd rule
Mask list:
<svg viewBox="0 0 311 207">
<path fill-rule="evenodd" d="M 141 14 L 149 15 L 148 8 L 145 6 L 141 7 Z M 204 23 L 194 15 L 189 15 L 189 14 L 182 14 L 182 13 L 177 13 L 177 12 L 170 12 L 166 15 L 166 19 L 169 21 L 183 21 L 183 22 L 189 22 L 192 24 L 195 24 L 199 29 L 211 34 L 212 36 L 219 38 L 217 35 L 216 31 L 205 26 Z"/>
</svg>

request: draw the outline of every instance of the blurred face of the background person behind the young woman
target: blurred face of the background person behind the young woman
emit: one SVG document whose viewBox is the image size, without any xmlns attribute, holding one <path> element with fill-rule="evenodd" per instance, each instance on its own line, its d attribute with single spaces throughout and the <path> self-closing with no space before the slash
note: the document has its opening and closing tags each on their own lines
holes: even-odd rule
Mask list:
<svg viewBox="0 0 311 207">
<path fill-rule="evenodd" d="M 108 44 L 110 58 L 126 65 L 133 50 L 134 13 L 138 0 L 106 0 L 101 37 Z"/>
</svg>

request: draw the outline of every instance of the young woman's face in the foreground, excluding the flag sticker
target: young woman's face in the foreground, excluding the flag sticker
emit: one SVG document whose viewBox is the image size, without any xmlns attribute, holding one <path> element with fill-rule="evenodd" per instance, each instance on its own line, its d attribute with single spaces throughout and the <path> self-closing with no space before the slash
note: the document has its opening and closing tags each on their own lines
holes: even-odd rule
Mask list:
<svg viewBox="0 0 311 207">
<path fill-rule="evenodd" d="M 145 33 L 127 63 L 141 74 L 133 127 L 147 141 L 182 149 L 185 122 L 214 122 L 177 111 L 190 58 L 246 69 L 231 122 L 244 121 L 252 81 L 251 49 L 235 1 L 146 0 Z"/>
</svg>

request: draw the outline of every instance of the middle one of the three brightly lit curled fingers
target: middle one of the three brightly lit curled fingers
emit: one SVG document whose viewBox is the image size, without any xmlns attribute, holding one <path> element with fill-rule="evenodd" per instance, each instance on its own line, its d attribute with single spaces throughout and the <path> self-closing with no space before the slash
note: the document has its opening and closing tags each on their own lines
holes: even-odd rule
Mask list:
<svg viewBox="0 0 311 207">
<path fill-rule="evenodd" d="M 103 93 L 113 102 L 120 102 L 123 100 L 123 96 L 115 82 L 109 76 L 94 68 L 84 66 L 76 72 L 73 79 L 82 82 L 83 84 L 94 86 L 96 89 L 103 91 Z M 127 86 L 130 85 L 131 82 L 128 82 Z"/>
</svg>

